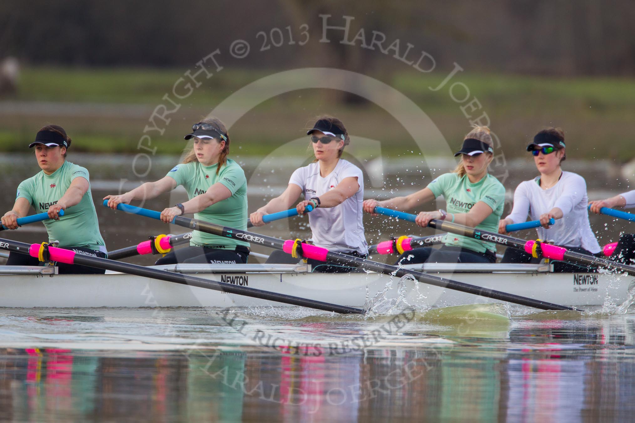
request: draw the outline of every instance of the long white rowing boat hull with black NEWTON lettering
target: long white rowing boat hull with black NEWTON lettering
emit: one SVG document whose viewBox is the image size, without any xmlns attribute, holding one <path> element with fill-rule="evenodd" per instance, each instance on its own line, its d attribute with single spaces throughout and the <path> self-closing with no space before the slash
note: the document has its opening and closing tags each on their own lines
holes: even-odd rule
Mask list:
<svg viewBox="0 0 635 423">
<path fill-rule="evenodd" d="M 0 270 L 2 266 L 0 266 Z M 398 298 L 417 307 L 500 302 L 378 273 L 305 273 L 304 266 L 154 266 L 250 288 L 326 303 L 363 307 Z M 420 265 L 419 265 L 420 268 Z M 280 306 L 261 299 L 126 275 L 43 275 L 43 268 L 0 274 L 0 307 L 231 307 Z M 621 304 L 635 277 L 610 273 L 552 273 L 534 265 L 425 265 L 431 275 L 566 306 Z M 545 271 L 547 270 L 547 271 Z M 7 271 L 4 266 L 3 273 Z M 28 274 L 27 271 L 35 273 Z"/>
</svg>

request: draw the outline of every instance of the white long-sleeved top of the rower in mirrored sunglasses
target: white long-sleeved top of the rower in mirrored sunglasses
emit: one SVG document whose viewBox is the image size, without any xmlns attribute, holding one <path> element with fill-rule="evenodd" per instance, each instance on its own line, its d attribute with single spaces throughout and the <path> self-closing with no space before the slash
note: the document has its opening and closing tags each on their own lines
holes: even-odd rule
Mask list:
<svg viewBox="0 0 635 423">
<path fill-rule="evenodd" d="M 521 182 L 514 192 L 514 208 L 507 218 L 514 223 L 523 223 L 529 214 L 531 220 L 538 220 L 541 214 L 558 207 L 563 218 L 556 220 L 550 229 L 537 228 L 538 238 L 554 240 L 562 247 L 582 247 L 593 254 L 600 252 L 591 225 L 587 205 L 587 184 L 582 176 L 573 172 L 562 172 L 556 185 L 543 190 L 538 185 L 540 176 Z"/>
</svg>

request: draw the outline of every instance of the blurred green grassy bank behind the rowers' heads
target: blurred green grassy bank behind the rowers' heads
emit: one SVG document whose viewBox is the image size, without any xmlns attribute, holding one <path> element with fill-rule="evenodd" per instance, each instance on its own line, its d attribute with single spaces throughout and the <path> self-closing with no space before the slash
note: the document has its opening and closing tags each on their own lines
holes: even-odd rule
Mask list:
<svg viewBox="0 0 635 423">
<path fill-rule="evenodd" d="M 40 114 L 0 115 L 0 150 L 21 151 L 39 126 L 55 122 L 67 126 L 74 148 L 90 152 L 137 152 L 138 140 L 156 105 L 187 69 L 84 69 L 25 68 L 18 93 L 3 100 L 61 103 L 107 103 L 139 107 L 141 112 L 113 116 L 73 116 L 55 105 Z M 273 72 L 225 69 L 206 80 L 171 115 L 163 134 L 152 133 L 152 146 L 162 153 L 182 150 L 182 136 L 190 124 L 206 115 L 238 89 Z M 572 155 L 590 159 L 635 157 L 632 116 L 635 115 L 635 81 L 627 79 L 556 79 L 521 75 L 483 75 L 461 72 L 439 91 L 446 74 L 395 73 L 386 84 L 413 100 L 439 128 L 451 148 L 460 145 L 469 130 L 457 97 L 476 98 L 507 157 L 522 155 L 523 145 L 544 126 L 561 126 Z M 455 86 L 462 82 L 465 86 Z M 454 95 L 454 98 L 452 96 Z M 145 107 L 145 108 L 144 108 Z M 323 112 L 337 115 L 352 134 L 380 140 L 384 155 L 402 155 L 418 146 L 410 134 L 384 110 L 369 103 L 344 103 L 331 90 L 302 90 L 283 94 L 254 107 L 232 127 L 231 135 L 243 152 L 260 155 L 286 141 L 300 138 L 302 128 Z M 425 136 L 425 134 L 424 134 Z M 439 140 L 430 140 L 434 150 Z"/>
</svg>

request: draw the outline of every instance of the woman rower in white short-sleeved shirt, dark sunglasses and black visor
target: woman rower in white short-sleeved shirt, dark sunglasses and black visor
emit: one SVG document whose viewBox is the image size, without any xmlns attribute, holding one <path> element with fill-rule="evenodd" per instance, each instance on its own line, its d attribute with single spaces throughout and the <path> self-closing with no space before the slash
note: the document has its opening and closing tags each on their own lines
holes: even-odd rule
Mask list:
<svg viewBox="0 0 635 423">
<path fill-rule="evenodd" d="M 364 177 L 359 167 L 341 158 L 351 138 L 342 121 L 331 116 L 320 117 L 307 135 L 311 136 L 314 162 L 296 169 L 286 190 L 251 213 L 250 221 L 254 226 L 262 226 L 265 224 L 262 216 L 286 210 L 304 195 L 304 201 L 296 208 L 298 214 L 304 214 L 307 205 L 312 206 L 309 226 L 314 244 L 330 251 L 366 257 L 368 245 L 362 219 Z M 295 263 L 297 261 L 295 259 Z M 324 273 L 353 270 L 337 263 L 307 261 L 314 271 Z M 267 263 L 294 263 L 294 259 L 274 251 Z"/>
</svg>

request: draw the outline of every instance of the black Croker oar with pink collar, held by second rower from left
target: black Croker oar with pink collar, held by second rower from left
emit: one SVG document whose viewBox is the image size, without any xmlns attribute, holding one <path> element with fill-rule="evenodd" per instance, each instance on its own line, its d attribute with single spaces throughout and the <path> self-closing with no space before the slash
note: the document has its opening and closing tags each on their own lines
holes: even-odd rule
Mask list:
<svg viewBox="0 0 635 423">
<path fill-rule="evenodd" d="M 142 216 L 150 215 L 150 213 L 142 214 L 137 211 L 135 211 L 135 214 L 141 214 Z M 213 235 L 218 235 L 220 237 L 234 238 L 237 240 L 250 242 L 251 244 L 264 245 L 265 247 L 272 247 L 283 251 L 287 251 L 287 249 L 285 248 L 285 244 L 290 242 L 274 237 L 267 237 L 266 235 L 260 235 L 259 233 L 251 233 L 248 231 L 237 230 L 235 228 L 228 228 L 227 226 L 217 225 L 215 223 L 184 218 L 183 216 L 177 216 L 177 218 L 174 219 L 173 223 L 175 225 L 184 226 L 185 228 L 190 228 L 192 230 L 203 231 L 211 233 Z M 395 275 L 397 277 L 412 275 L 419 282 L 428 283 L 429 285 L 435 285 L 446 289 L 458 290 L 460 292 L 467 292 L 468 294 L 474 294 L 481 297 L 488 297 L 497 299 L 499 301 L 507 301 L 509 303 L 521 304 L 523 306 L 530 306 L 544 310 L 573 310 L 573 308 L 561 306 L 559 304 L 547 303 L 545 301 L 540 301 L 533 298 L 517 296 L 515 294 L 508 294 L 507 292 L 478 287 L 476 285 L 469 285 L 468 283 L 464 282 L 457 282 L 455 280 L 427 275 L 426 273 L 422 273 L 420 271 L 405 270 L 397 266 L 377 263 L 376 261 L 370 261 L 361 257 L 348 256 L 347 254 L 342 254 L 339 252 L 330 252 L 326 249 L 316 247 L 314 245 L 302 244 L 302 249 L 305 253 L 307 251 L 316 252 L 316 256 L 319 256 L 318 259 L 321 259 L 322 261 L 334 261 L 335 263 L 343 264 L 345 266 L 364 268 L 366 270 L 376 271 L 377 273 L 384 273 L 385 275 Z"/>
</svg>

